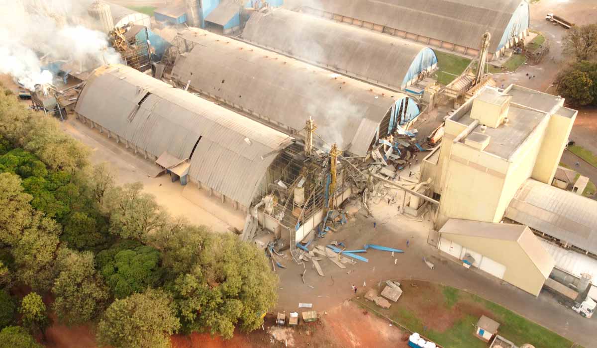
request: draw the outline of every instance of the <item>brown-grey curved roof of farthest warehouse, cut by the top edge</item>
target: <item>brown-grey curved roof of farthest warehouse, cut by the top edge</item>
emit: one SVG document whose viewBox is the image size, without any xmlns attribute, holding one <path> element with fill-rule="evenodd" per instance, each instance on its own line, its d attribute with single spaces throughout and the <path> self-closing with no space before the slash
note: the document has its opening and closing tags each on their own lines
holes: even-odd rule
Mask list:
<svg viewBox="0 0 597 348">
<path fill-rule="evenodd" d="M 310 7 L 428 38 L 477 48 L 491 34 L 490 52 L 497 51 L 516 9 L 525 0 L 301 0 L 287 8 Z"/>
</svg>

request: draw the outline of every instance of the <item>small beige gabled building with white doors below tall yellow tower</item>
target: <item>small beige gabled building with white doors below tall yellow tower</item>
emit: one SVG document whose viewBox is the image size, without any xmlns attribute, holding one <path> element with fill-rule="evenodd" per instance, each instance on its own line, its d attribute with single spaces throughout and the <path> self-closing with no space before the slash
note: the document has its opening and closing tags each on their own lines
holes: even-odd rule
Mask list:
<svg viewBox="0 0 597 348">
<path fill-rule="evenodd" d="M 439 233 L 439 250 L 536 296 L 555 265 L 524 225 L 451 218 Z"/>
</svg>

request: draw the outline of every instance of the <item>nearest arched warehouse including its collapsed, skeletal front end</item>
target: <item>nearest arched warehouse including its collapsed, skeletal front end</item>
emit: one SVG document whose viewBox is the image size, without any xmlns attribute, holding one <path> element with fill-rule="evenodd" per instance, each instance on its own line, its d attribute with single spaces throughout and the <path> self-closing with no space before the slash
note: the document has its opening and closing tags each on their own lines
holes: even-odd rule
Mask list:
<svg viewBox="0 0 597 348">
<path fill-rule="evenodd" d="M 349 172 L 337 163 L 341 152 L 313 149 L 312 121 L 305 122 L 310 137 L 296 141 L 131 67 L 94 70 L 75 112 L 155 163 L 153 176 L 167 172 L 246 212 L 248 233 L 260 224 L 300 240 L 352 193 Z"/>
</svg>

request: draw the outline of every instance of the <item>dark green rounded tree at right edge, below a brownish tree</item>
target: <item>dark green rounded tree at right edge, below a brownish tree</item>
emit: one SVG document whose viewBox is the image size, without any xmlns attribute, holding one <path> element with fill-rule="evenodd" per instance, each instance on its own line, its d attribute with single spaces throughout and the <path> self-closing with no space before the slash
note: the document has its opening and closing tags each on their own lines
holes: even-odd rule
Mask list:
<svg viewBox="0 0 597 348">
<path fill-rule="evenodd" d="M 564 70 L 559 74 L 558 93 L 574 105 L 583 106 L 593 102 L 593 81 L 580 70 Z"/>
</svg>

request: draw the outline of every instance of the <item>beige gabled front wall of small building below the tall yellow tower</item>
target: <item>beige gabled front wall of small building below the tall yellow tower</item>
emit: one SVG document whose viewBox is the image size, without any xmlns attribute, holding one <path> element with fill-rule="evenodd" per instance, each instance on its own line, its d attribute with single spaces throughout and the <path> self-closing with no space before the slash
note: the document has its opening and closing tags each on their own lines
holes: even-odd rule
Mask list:
<svg viewBox="0 0 597 348">
<path fill-rule="evenodd" d="M 442 237 L 506 266 L 504 281 L 535 296 L 541 291 L 545 278 L 518 242 L 450 233 L 442 233 Z"/>
</svg>

